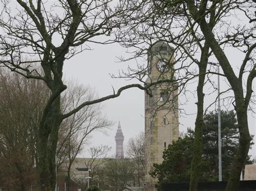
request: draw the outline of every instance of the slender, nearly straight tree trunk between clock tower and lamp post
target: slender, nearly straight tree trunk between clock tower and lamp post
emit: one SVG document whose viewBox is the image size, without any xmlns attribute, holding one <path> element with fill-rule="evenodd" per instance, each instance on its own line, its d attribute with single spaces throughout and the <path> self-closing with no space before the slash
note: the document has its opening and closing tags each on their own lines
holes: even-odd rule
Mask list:
<svg viewBox="0 0 256 191">
<path fill-rule="evenodd" d="M 203 154 L 203 126 L 204 126 L 204 81 L 208 61 L 209 47 L 205 44 L 201 53 L 199 67 L 199 80 L 197 86 L 197 118 L 194 128 L 194 151 L 191 163 L 190 190 L 198 190 L 198 180 L 201 168 L 201 156 Z"/>
</svg>

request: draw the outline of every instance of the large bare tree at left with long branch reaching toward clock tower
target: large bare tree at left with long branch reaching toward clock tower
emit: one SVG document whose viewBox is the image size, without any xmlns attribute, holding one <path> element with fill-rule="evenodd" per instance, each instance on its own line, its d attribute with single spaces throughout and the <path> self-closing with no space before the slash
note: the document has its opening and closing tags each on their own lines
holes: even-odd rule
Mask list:
<svg viewBox="0 0 256 191">
<path fill-rule="evenodd" d="M 133 9 L 133 5 L 118 4 L 110 8 L 109 1 L 73 0 L 49 1 L 47 4 L 41 0 L 1 0 L 1 4 L 0 64 L 28 79 L 43 81 L 50 90 L 38 125 L 36 148 L 41 189 L 54 190 L 58 132 L 62 121 L 86 105 L 118 97 L 125 89 L 145 89 L 140 84 L 131 84 L 112 95 L 86 100 L 65 113 L 60 107 L 60 94 L 67 88 L 62 79 L 65 60 L 90 49 L 88 42 L 111 43 L 99 42 L 96 37 L 110 36 L 122 25 L 115 18 L 125 16 L 124 13 Z M 18 9 L 14 11 L 16 6 Z M 37 67 L 43 70 L 42 74 L 31 62 L 37 63 Z"/>
</svg>

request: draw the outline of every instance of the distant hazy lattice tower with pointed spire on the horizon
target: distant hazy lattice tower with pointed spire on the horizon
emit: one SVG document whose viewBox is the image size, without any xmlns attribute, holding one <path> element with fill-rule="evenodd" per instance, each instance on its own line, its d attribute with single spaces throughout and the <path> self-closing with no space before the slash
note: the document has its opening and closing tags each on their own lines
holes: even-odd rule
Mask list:
<svg viewBox="0 0 256 191">
<path fill-rule="evenodd" d="M 124 135 L 121 129 L 120 121 L 118 122 L 118 128 L 116 136 L 114 136 L 114 140 L 116 140 L 116 159 L 124 158 Z"/>
</svg>

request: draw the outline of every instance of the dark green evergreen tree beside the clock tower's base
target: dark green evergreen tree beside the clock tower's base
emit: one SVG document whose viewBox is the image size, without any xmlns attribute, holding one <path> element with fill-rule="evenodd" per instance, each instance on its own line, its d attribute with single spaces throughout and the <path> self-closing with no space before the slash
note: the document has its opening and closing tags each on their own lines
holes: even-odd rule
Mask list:
<svg viewBox="0 0 256 191">
<path fill-rule="evenodd" d="M 201 164 L 201 181 L 218 180 L 218 112 L 210 112 L 204 117 L 203 128 L 203 161 Z M 221 111 L 221 155 L 223 181 L 228 179 L 235 149 L 238 146 L 238 125 L 234 111 Z M 253 136 L 252 136 L 253 138 Z M 185 182 L 190 180 L 190 167 L 193 153 L 194 131 L 187 129 L 187 133 L 179 138 L 163 153 L 164 161 L 154 164 L 150 172 L 163 182 Z M 251 145 L 254 144 L 251 142 Z M 245 164 L 253 164 L 247 156 Z"/>
</svg>

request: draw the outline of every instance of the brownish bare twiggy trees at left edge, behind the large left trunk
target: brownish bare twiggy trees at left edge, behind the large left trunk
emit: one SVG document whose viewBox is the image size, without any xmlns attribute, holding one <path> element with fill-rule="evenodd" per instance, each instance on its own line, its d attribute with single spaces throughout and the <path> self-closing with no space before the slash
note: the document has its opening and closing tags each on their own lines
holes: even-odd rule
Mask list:
<svg viewBox="0 0 256 191">
<path fill-rule="evenodd" d="M 26 190 L 38 183 L 37 125 L 47 98 L 42 82 L 0 70 L 2 186 Z"/>
</svg>

